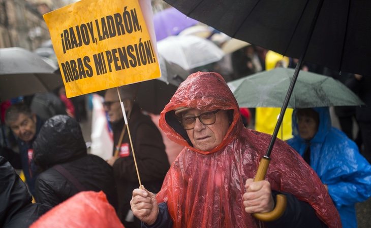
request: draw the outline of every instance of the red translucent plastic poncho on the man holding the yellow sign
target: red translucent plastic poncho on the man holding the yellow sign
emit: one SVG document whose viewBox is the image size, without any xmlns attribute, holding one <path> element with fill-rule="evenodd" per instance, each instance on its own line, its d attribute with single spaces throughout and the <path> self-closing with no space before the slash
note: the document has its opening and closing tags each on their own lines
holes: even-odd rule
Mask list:
<svg viewBox="0 0 371 228">
<path fill-rule="evenodd" d="M 233 110 L 233 121 L 221 144 L 210 151 L 195 149 L 173 115 L 186 106 L 200 110 Z M 173 162 L 157 201 L 167 202 L 174 227 L 259 227 L 244 211 L 246 179 L 253 178 L 270 136 L 243 127 L 237 101 L 218 73 L 191 74 L 161 112 L 160 127 L 185 146 Z M 314 171 L 285 142 L 277 139 L 266 179 L 273 190 L 308 202 L 329 227 L 340 219 Z M 264 224 L 261 224 L 264 226 Z"/>
</svg>

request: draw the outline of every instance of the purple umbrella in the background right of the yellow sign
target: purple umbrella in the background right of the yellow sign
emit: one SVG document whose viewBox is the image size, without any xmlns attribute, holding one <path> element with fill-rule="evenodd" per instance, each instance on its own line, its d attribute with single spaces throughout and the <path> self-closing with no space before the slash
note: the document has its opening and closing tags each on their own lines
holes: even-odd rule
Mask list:
<svg viewBox="0 0 371 228">
<path fill-rule="evenodd" d="M 185 16 L 175 8 L 168 8 L 153 16 L 154 32 L 157 41 L 165 39 L 169 35 L 177 35 L 183 29 L 199 23 Z"/>
</svg>

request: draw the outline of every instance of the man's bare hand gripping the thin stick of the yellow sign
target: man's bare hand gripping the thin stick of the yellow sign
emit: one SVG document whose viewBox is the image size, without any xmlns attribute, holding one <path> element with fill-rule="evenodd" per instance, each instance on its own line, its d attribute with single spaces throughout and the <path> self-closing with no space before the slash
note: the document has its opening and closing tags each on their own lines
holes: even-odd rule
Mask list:
<svg viewBox="0 0 371 228">
<path fill-rule="evenodd" d="M 133 198 L 130 201 L 133 214 L 148 225 L 156 222 L 159 214 L 159 205 L 156 201 L 156 195 L 143 189 L 136 188 L 133 191 Z"/>
</svg>

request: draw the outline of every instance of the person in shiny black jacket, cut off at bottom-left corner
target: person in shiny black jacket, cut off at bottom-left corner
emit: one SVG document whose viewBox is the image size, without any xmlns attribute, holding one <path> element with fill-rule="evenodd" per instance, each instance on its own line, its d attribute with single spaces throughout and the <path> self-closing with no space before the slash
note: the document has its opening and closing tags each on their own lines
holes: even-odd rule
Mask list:
<svg viewBox="0 0 371 228">
<path fill-rule="evenodd" d="M 0 156 L 0 227 L 29 227 L 50 207 L 32 203 L 25 183 L 10 163 Z"/>
</svg>

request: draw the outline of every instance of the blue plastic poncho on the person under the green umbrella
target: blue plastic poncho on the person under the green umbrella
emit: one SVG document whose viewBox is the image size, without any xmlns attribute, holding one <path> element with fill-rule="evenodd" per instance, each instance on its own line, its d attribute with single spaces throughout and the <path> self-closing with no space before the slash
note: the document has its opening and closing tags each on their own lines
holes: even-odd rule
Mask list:
<svg viewBox="0 0 371 228">
<path fill-rule="evenodd" d="M 331 127 L 327 107 L 314 108 L 319 113 L 320 124 L 312 140 L 300 138 L 293 112 L 294 138 L 288 143 L 304 154 L 307 145 L 311 149 L 311 166 L 317 172 L 340 213 L 343 227 L 357 227 L 354 204 L 371 196 L 371 166 L 359 154 L 357 145 L 343 132 Z"/>
</svg>

